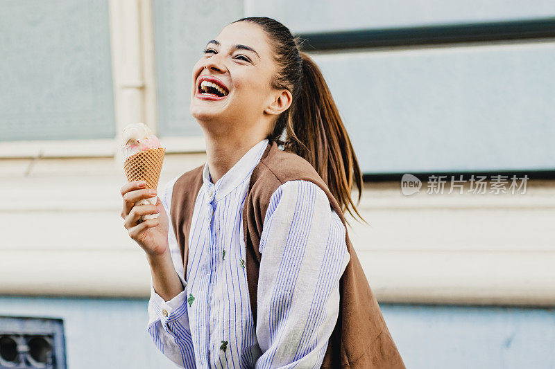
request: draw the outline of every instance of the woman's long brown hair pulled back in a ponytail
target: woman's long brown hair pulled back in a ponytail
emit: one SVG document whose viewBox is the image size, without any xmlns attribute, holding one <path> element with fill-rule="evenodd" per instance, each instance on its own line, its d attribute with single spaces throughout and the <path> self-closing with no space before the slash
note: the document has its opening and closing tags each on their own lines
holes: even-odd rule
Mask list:
<svg viewBox="0 0 555 369">
<path fill-rule="evenodd" d="M 258 24 L 268 35 L 276 64 L 279 66 L 271 81 L 274 89 L 287 89 L 293 96 L 289 109 L 275 122 L 273 132 L 266 138 L 284 145 L 311 163 L 330 188 L 341 206 L 360 219 L 351 198 L 353 184 L 357 186 L 360 202 L 362 174 L 347 130 L 343 125 L 332 93 L 314 60 L 300 51 L 300 40 L 293 37 L 289 28 L 268 17 L 246 17 L 238 21 Z M 286 141 L 281 136 L 286 132 Z M 352 208 L 352 210 L 351 210 Z"/>
</svg>

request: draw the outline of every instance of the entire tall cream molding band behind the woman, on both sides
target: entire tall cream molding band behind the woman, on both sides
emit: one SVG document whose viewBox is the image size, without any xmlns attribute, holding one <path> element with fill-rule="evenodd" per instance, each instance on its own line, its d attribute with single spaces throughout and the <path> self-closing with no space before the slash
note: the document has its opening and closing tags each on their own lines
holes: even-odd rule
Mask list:
<svg viewBox="0 0 555 369">
<path fill-rule="evenodd" d="M 0 294 L 139 297 L 144 252 L 123 228 L 121 165 L 113 158 L 0 161 Z M 205 161 L 169 154 L 159 190 Z M 86 195 L 83 195 L 86 194 Z M 524 195 L 402 195 L 400 182 L 364 183 L 352 243 L 382 302 L 555 305 L 555 181 Z M 32 232 L 29 232 L 32 229 Z"/>
</svg>

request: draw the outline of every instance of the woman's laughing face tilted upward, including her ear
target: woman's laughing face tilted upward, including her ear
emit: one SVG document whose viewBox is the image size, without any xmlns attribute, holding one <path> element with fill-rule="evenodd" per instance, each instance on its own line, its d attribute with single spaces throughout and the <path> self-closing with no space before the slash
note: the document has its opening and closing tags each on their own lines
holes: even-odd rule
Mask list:
<svg viewBox="0 0 555 369">
<path fill-rule="evenodd" d="M 219 134 L 254 126 L 261 129 L 261 125 L 269 129 L 268 113 L 275 117 L 273 104 L 280 96 L 280 91 L 271 88 L 274 73 L 273 55 L 260 26 L 246 21 L 225 26 L 216 39 L 208 42 L 204 55 L 193 67 L 191 115 Z M 212 83 L 219 84 L 221 90 L 210 87 Z"/>
</svg>

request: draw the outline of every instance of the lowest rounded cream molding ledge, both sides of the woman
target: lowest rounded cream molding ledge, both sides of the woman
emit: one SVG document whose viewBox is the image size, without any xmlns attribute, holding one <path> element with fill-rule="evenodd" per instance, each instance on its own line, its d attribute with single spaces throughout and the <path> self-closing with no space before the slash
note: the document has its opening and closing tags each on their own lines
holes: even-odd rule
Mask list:
<svg viewBox="0 0 555 369">
<path fill-rule="evenodd" d="M 381 303 L 555 306 L 555 253 L 358 251 Z M 0 295 L 146 298 L 140 250 L 0 251 Z"/>
</svg>

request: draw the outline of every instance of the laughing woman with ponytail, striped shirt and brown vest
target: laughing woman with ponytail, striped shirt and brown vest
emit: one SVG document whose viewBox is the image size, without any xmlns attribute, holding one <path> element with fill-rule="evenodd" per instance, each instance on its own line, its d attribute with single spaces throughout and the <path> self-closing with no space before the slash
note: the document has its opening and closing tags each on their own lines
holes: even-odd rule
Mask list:
<svg viewBox="0 0 555 369">
<path fill-rule="evenodd" d="M 249 17 L 192 72 L 206 163 L 156 206 L 135 206 L 156 194 L 144 183 L 121 188 L 157 348 L 182 368 L 404 368 L 346 232 L 361 172 L 318 66 Z"/>
</svg>

